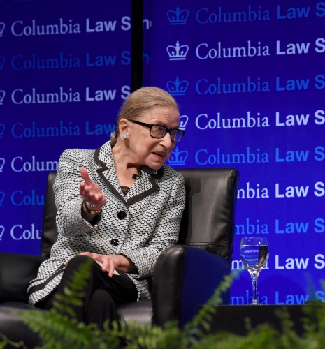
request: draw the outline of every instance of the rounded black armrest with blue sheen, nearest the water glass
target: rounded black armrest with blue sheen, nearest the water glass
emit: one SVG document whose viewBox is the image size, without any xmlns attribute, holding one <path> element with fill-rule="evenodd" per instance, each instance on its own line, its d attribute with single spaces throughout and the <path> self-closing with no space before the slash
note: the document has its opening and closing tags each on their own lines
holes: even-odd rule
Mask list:
<svg viewBox="0 0 325 349">
<path fill-rule="evenodd" d="M 182 245 L 167 248 L 154 267 L 154 323 L 163 326 L 178 320 L 183 327 L 230 273 L 231 263 L 218 255 Z M 229 304 L 229 298 L 230 289 L 222 295 L 223 304 Z"/>
</svg>

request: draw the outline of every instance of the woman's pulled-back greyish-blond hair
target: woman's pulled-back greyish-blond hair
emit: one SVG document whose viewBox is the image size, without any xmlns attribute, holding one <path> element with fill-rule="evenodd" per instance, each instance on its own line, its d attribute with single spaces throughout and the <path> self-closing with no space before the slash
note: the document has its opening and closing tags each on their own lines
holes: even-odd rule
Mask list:
<svg viewBox="0 0 325 349">
<path fill-rule="evenodd" d="M 116 129 L 110 135 L 110 145 L 113 148 L 119 138 L 119 124 L 121 119 L 137 119 L 147 110 L 154 107 L 165 107 L 178 110 L 178 104 L 168 92 L 159 87 L 142 87 L 129 95 L 122 105 L 115 123 Z"/>
</svg>

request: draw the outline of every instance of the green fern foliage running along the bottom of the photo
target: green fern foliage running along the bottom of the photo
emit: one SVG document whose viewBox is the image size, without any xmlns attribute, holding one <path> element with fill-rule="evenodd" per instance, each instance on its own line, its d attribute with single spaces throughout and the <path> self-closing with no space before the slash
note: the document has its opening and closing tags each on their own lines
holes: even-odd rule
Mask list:
<svg viewBox="0 0 325 349">
<path fill-rule="evenodd" d="M 221 304 L 222 292 L 227 290 L 235 276 L 226 276 L 215 290 L 214 295 L 205 304 L 184 329 L 177 322 L 168 322 L 164 328 L 156 325 L 139 325 L 131 322 L 116 322 L 108 327 L 104 324 L 103 331 L 96 325 L 78 323 L 74 318 L 71 304 L 81 305 L 80 295 L 87 283 L 90 264 L 86 262 L 80 270 L 73 274 L 71 282 L 64 290 L 64 296 L 56 297 L 50 313 L 44 311 L 24 311 L 22 318 L 34 332 L 38 333 L 43 349 L 117 349 L 121 339 L 129 343 L 128 349 L 305 349 L 324 348 L 325 343 L 325 306 L 315 309 L 306 306 L 305 311 L 313 320 L 305 319 L 305 334 L 298 336 L 293 329 L 289 314 L 282 309 L 277 313 L 282 323 L 282 331 L 278 332 L 270 325 L 250 328 L 247 336 L 236 336 L 226 332 L 208 334 L 212 315 L 216 304 Z M 325 288 L 325 283 L 323 283 Z M 1 348 L 11 343 L 1 338 Z M 16 343 L 17 348 L 22 343 Z"/>
</svg>

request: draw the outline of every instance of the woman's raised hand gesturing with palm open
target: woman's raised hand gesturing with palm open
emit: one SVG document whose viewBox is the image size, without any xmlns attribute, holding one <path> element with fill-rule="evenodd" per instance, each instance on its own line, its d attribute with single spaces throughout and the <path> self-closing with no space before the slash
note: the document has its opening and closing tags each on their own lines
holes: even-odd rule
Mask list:
<svg viewBox="0 0 325 349">
<path fill-rule="evenodd" d="M 90 179 L 85 168 L 80 168 L 80 174 L 85 182 L 80 183 L 79 193 L 82 199 L 88 204 L 94 205 L 94 209 L 102 209 L 106 204 L 106 198 L 101 191 L 101 187 Z"/>
</svg>

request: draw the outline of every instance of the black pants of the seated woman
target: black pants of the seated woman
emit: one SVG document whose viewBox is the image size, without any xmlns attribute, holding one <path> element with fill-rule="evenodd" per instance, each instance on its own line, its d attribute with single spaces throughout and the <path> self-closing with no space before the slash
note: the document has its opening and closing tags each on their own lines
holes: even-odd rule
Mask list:
<svg viewBox="0 0 325 349">
<path fill-rule="evenodd" d="M 57 293 L 64 295 L 64 287 L 71 280 L 75 269 L 87 259 L 92 260 L 92 272 L 87 280 L 85 297 L 82 297 L 82 306 L 73 306 L 75 316 L 79 322 L 85 324 L 96 323 L 100 329 L 103 329 L 105 320 L 118 320 L 117 306 L 128 302 L 136 302 L 138 292 L 134 283 L 122 272 L 120 275 L 108 277 L 107 272 L 103 272 L 101 267 L 90 257 L 78 255 L 74 257 L 62 275 L 62 280 L 58 285 Z M 38 308 L 50 309 L 55 294 L 51 294 L 35 306 Z"/>
</svg>

